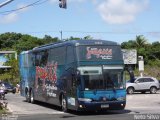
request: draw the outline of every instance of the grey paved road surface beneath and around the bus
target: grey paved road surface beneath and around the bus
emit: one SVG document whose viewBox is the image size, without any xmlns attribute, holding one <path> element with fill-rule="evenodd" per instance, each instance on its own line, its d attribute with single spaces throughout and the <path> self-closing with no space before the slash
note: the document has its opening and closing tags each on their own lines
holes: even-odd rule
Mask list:
<svg viewBox="0 0 160 120">
<path fill-rule="evenodd" d="M 140 114 L 159 114 L 160 119 L 160 92 L 157 94 L 133 94 L 127 95 L 127 105 L 122 111 L 107 111 L 99 113 L 77 113 L 70 111 L 64 113 L 60 108 L 38 102 L 31 104 L 25 102 L 25 98 L 19 94 L 7 94 L 8 107 L 18 120 L 134 120 Z M 16 119 L 16 120 L 17 120 Z"/>
</svg>

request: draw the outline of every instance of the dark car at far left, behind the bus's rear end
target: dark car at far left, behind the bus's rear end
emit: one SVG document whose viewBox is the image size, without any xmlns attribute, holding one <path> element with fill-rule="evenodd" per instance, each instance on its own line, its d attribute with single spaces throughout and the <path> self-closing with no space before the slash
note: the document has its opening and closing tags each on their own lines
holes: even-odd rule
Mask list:
<svg viewBox="0 0 160 120">
<path fill-rule="evenodd" d="M 16 88 L 13 85 L 11 85 L 8 82 L 4 82 L 3 84 L 5 86 L 5 93 L 6 94 L 9 92 L 14 93 L 14 94 L 16 93 Z"/>
</svg>

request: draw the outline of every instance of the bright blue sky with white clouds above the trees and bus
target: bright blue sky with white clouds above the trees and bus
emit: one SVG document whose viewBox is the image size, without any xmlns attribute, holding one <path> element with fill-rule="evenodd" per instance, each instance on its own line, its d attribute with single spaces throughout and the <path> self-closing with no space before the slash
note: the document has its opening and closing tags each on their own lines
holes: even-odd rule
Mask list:
<svg viewBox="0 0 160 120">
<path fill-rule="evenodd" d="M 160 40 L 159 6 L 160 0 L 67 0 L 62 9 L 59 0 L 14 0 L 0 7 L 0 34 L 61 38 L 62 31 L 62 39 L 90 35 L 118 43 L 144 35 L 152 43 Z"/>
</svg>

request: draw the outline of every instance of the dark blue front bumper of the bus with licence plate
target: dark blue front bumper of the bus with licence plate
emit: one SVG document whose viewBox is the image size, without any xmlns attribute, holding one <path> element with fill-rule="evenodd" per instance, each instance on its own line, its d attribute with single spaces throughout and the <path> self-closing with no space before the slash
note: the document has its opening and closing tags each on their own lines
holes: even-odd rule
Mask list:
<svg viewBox="0 0 160 120">
<path fill-rule="evenodd" d="M 126 101 L 110 102 L 82 102 L 79 101 L 78 111 L 97 111 L 97 110 L 123 110 Z"/>
</svg>

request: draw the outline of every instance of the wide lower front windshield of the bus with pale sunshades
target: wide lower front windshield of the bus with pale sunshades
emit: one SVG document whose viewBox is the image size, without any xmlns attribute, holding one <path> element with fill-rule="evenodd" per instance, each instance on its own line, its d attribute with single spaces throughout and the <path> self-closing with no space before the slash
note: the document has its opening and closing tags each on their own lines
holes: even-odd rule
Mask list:
<svg viewBox="0 0 160 120">
<path fill-rule="evenodd" d="M 123 89 L 122 66 L 79 67 L 83 90 Z"/>
</svg>

